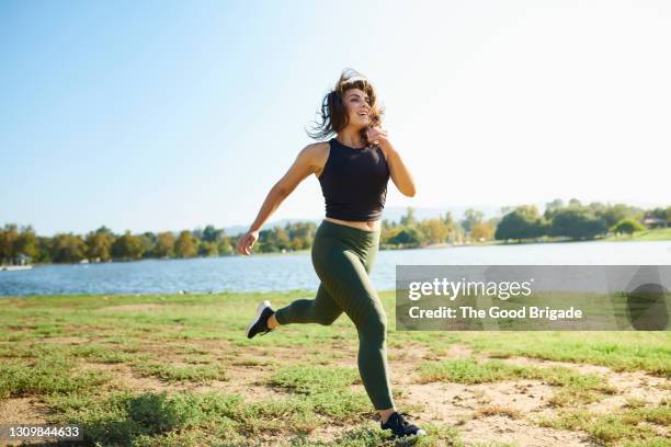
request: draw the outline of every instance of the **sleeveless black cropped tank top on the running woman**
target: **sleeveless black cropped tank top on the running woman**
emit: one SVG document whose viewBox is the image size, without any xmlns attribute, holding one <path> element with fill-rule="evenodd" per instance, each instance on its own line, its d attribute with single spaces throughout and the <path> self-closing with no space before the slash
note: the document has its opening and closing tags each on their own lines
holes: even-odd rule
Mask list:
<svg viewBox="0 0 671 447">
<path fill-rule="evenodd" d="M 326 215 L 342 220 L 378 220 L 387 198 L 389 168 L 379 147 L 354 149 L 336 138 L 329 141 L 319 183 Z"/>
</svg>

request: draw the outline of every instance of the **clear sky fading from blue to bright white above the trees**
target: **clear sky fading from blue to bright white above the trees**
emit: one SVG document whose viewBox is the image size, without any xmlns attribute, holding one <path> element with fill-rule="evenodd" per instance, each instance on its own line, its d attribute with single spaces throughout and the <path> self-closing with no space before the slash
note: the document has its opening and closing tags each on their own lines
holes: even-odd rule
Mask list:
<svg viewBox="0 0 671 447">
<path fill-rule="evenodd" d="M 0 225 L 249 226 L 340 72 L 417 195 L 671 205 L 667 1 L 0 2 Z M 323 216 L 307 177 L 268 222 Z"/>
</svg>

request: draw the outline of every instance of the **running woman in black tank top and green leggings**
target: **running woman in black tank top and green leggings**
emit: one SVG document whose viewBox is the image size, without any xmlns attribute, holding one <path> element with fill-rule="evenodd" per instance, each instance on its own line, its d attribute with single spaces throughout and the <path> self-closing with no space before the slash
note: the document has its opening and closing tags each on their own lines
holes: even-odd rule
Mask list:
<svg viewBox="0 0 671 447">
<path fill-rule="evenodd" d="M 315 174 L 326 200 L 326 218 L 312 243 L 311 257 L 321 279 L 315 299 L 298 299 L 274 311 L 259 305 L 249 339 L 291 323 L 331 324 L 342 312 L 359 333 L 359 370 L 383 429 L 395 436 L 424 431 L 396 412 L 391 399 L 386 352 L 387 317 L 368 274 L 377 254 L 382 211 L 389 176 L 406 196 L 414 196 L 414 182 L 398 151 L 379 125 L 383 111 L 375 89 L 359 72 L 345 69 L 321 106 L 315 139 L 336 134 L 328 142 L 305 147 L 288 172 L 272 187 L 237 252 L 249 255 L 259 230 L 280 204 L 308 175 Z"/>
</svg>

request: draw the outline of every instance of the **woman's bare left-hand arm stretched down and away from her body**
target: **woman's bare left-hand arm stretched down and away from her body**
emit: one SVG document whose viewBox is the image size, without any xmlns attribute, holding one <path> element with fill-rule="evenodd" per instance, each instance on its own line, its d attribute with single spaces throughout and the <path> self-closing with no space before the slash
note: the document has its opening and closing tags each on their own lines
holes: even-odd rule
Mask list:
<svg viewBox="0 0 671 447">
<path fill-rule="evenodd" d="M 254 222 L 249 228 L 249 231 L 238 240 L 238 245 L 236 248 L 237 253 L 244 255 L 251 254 L 251 249 L 259 239 L 259 231 L 263 227 L 263 224 L 265 224 L 272 214 L 275 213 L 282 202 L 294 192 L 300 182 L 316 172 L 318 145 L 319 144 L 308 145 L 303 148 L 286 174 L 273 185 L 263 205 L 261 205 L 261 209 Z"/>
</svg>

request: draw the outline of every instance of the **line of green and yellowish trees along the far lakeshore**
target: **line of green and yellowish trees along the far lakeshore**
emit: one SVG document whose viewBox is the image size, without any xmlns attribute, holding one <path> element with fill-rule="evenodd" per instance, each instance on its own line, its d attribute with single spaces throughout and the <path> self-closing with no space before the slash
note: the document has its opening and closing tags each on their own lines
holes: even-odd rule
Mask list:
<svg viewBox="0 0 671 447">
<path fill-rule="evenodd" d="M 671 222 L 671 206 L 641 209 L 625 204 L 591 203 L 578 199 L 564 204 L 555 199 L 545 206 L 543 215 L 536 206 L 504 207 L 501 217 L 485 219 L 482 211 L 469 208 L 463 218 L 454 219 L 446 211 L 437 218 L 419 220 L 412 207 L 398 222 L 382 222 L 380 249 L 421 248 L 431 244 L 463 244 L 484 241 L 584 240 L 609 233 L 633 233 L 645 229 L 645 217 Z M 307 250 L 312 245 L 317 225 L 293 222 L 259 232 L 255 252 L 273 253 Z M 133 261 L 140 259 L 186 259 L 235 254 L 238 236 L 227 236 L 212 225 L 204 229 L 180 232 L 151 231 L 115 234 L 106 227 L 84 236 L 58 233 L 39 237 L 31 226 L 19 228 L 5 224 L 0 229 L 0 263 L 13 264 L 19 256 L 30 256 L 35 263 L 75 263 Z"/>
</svg>

